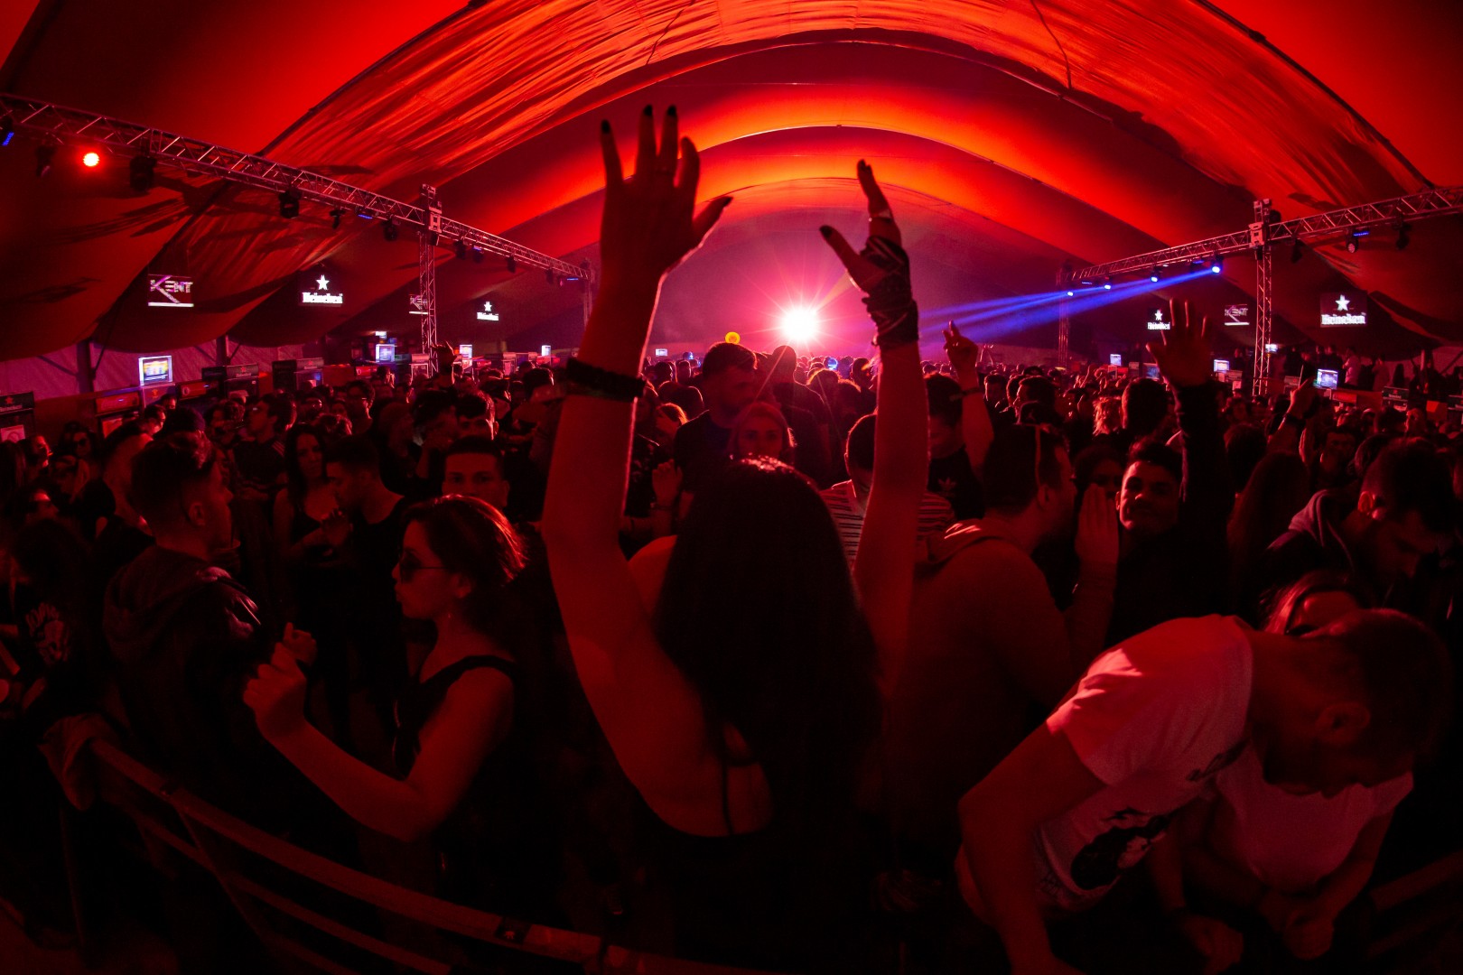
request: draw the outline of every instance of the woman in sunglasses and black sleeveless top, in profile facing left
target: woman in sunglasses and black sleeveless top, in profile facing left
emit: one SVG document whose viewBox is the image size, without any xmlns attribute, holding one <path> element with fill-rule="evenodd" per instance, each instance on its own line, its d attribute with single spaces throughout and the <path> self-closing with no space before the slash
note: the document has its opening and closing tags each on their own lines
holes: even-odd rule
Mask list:
<svg viewBox="0 0 1463 975">
<path fill-rule="evenodd" d="M 452 496 L 408 510 L 392 577 L 402 614 L 433 623 L 436 642 L 396 700 L 395 775 L 306 722 L 304 675 L 284 643 L 244 703 L 263 737 L 354 820 L 402 841 L 430 836 L 442 896 L 541 918 L 554 848 L 534 786 L 524 664 L 505 639 L 506 591 L 522 564 L 518 535 L 484 501 Z"/>
</svg>

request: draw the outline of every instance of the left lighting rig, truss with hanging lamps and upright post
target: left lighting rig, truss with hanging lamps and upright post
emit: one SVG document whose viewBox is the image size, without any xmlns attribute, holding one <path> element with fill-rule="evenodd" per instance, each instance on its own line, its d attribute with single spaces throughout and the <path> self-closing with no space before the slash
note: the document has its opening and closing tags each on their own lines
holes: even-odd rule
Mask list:
<svg viewBox="0 0 1463 975">
<path fill-rule="evenodd" d="M 509 272 L 522 265 L 541 268 L 546 273 L 560 279 L 579 281 L 585 285 L 585 307 L 590 304 L 588 285 L 594 282 L 594 273 L 588 263 L 571 265 L 477 227 L 446 219 L 436 202 L 436 187 L 432 186 L 421 187 L 418 202 L 407 203 L 265 156 L 18 95 L 0 94 L 0 120 L 3 120 L 0 124 L 3 124 L 4 143 L 9 143 L 10 136 L 16 132 L 41 137 L 41 143 L 37 146 L 37 175 L 50 171 L 59 145 L 73 145 L 83 146 L 89 153 L 107 152 L 132 156 L 130 183 L 138 191 L 151 189 L 152 171 L 162 165 L 193 175 L 221 178 L 238 186 L 272 191 L 279 199 L 281 216 L 287 219 L 298 213 L 301 200 L 310 200 L 331 208 L 332 229 L 339 228 L 341 215 L 347 210 L 353 210 L 364 219 L 383 221 L 382 231 L 388 240 L 395 240 L 399 227 L 415 228 L 418 241 L 418 294 L 415 297 L 421 298 L 430 308 L 421 320 L 423 348 L 432 348 L 437 341 L 436 246 L 443 237 L 456 241 L 461 247 L 471 249 L 474 260 L 481 260 L 484 253 L 503 257 Z"/>
</svg>

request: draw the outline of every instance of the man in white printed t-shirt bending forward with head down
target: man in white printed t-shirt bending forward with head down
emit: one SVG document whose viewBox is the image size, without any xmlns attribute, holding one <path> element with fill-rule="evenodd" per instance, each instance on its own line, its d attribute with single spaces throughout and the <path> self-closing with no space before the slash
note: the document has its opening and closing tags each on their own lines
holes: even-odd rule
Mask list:
<svg viewBox="0 0 1463 975">
<path fill-rule="evenodd" d="M 960 804 L 971 911 L 1012 974 L 1072 972 L 1045 921 L 1096 903 L 1150 849 L 1159 900 L 1222 971 L 1239 936 L 1186 909 L 1169 820 L 1252 744 L 1265 781 L 1336 795 L 1406 773 L 1441 734 L 1453 678 L 1438 637 L 1400 612 L 1305 637 L 1230 617 L 1173 620 L 1093 662 L 1072 696 Z"/>
</svg>

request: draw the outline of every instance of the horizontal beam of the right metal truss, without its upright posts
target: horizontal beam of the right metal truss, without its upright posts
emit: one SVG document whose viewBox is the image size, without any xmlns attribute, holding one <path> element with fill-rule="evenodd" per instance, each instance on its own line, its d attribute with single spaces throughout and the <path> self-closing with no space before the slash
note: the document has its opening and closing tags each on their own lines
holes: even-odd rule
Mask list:
<svg viewBox="0 0 1463 975">
<path fill-rule="evenodd" d="M 1270 218 L 1279 215 L 1268 209 L 1268 200 L 1263 202 Z M 1353 231 L 1400 227 L 1409 219 L 1459 212 L 1463 212 L 1463 186 L 1447 186 L 1377 203 L 1344 206 L 1337 210 L 1301 216 L 1292 221 L 1257 221 L 1233 234 L 1210 237 L 1191 244 L 1179 244 L 1178 247 L 1165 247 L 1163 250 L 1153 250 L 1105 265 L 1091 265 L 1072 272 L 1065 278 L 1064 284 L 1083 281 L 1097 284 L 1105 278 L 1148 273 L 1154 268 L 1185 266 L 1213 260 L 1214 257 L 1242 254 L 1280 241 L 1312 243 L 1331 237 L 1344 237 Z"/>
</svg>

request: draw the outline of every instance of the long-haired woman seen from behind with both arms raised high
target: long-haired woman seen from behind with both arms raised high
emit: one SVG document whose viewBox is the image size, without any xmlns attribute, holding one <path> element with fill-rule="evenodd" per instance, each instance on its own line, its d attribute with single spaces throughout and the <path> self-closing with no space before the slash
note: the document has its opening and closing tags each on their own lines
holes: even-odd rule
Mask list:
<svg viewBox="0 0 1463 975">
<path fill-rule="evenodd" d="M 647 108 L 635 175 L 609 123 L 603 276 L 569 367 L 543 534 L 579 683 L 658 820 L 677 950 L 780 969 L 850 971 L 868 887 L 850 849 L 854 792 L 879 734 L 881 683 L 907 639 L 928 466 L 909 259 L 872 170 L 869 244 L 822 234 L 878 326 L 879 428 L 854 579 L 816 490 L 771 459 L 698 491 L 647 610 L 617 544 L 633 399 L 664 275 L 730 203 L 695 213 L 699 158 Z M 679 170 L 679 178 L 677 178 Z"/>
</svg>

